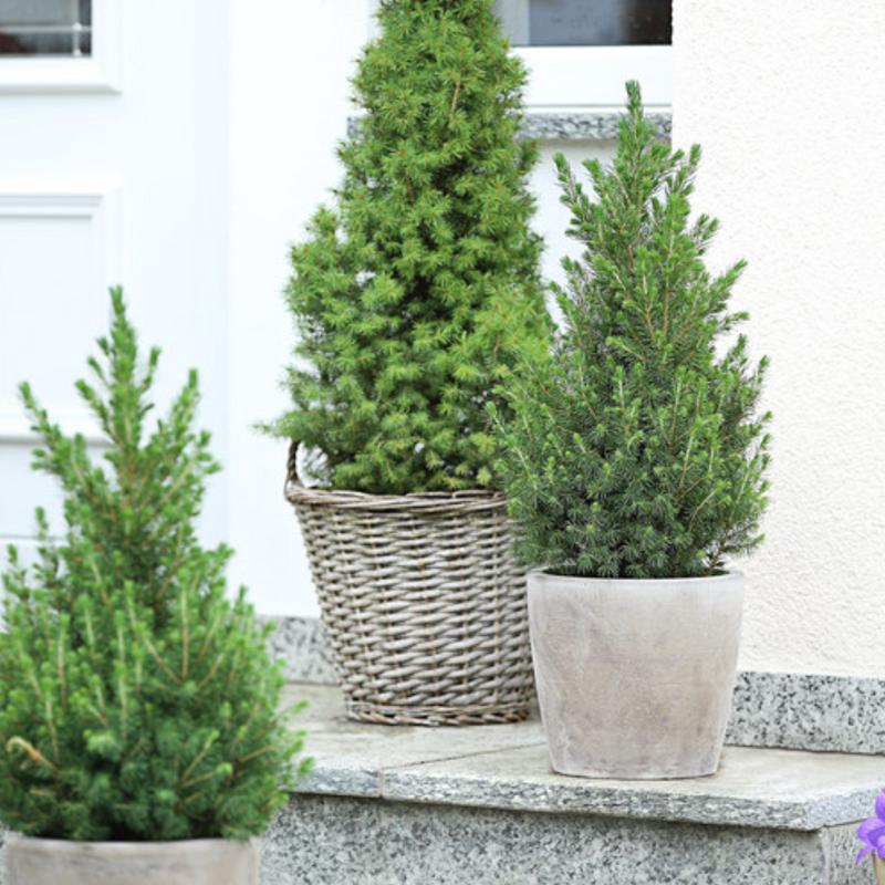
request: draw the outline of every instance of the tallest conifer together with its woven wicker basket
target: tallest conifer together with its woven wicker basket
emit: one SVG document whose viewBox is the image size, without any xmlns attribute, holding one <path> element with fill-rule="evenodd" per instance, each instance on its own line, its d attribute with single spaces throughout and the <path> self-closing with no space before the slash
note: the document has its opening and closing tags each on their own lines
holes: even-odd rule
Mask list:
<svg viewBox="0 0 885 885">
<path fill-rule="evenodd" d="M 549 317 L 524 72 L 491 7 L 382 2 L 344 183 L 291 252 L 293 408 L 268 429 L 294 441 L 287 496 L 348 715 L 367 721 L 512 721 L 532 697 L 486 407 L 543 358 Z"/>
</svg>

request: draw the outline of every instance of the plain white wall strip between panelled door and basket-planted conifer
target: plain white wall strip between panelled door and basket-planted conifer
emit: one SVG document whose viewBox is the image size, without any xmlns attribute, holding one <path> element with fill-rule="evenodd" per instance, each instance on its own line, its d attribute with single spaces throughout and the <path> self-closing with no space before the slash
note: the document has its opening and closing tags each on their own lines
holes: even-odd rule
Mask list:
<svg viewBox="0 0 885 885">
<path fill-rule="evenodd" d="M 267 614 L 319 615 L 282 496 L 287 445 L 251 428 L 289 406 L 277 386 L 293 344 L 289 244 L 341 180 L 334 150 L 368 23 L 367 0 L 231 0 L 229 576 Z"/>
</svg>

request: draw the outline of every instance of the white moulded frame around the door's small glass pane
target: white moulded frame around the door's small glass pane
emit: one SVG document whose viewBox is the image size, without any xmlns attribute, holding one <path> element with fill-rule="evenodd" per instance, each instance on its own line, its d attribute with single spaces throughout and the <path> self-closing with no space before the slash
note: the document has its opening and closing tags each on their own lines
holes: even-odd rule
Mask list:
<svg viewBox="0 0 885 885">
<path fill-rule="evenodd" d="M 0 94 L 121 92 L 126 6 L 127 0 L 92 0 L 91 55 L 0 56 Z"/>
</svg>

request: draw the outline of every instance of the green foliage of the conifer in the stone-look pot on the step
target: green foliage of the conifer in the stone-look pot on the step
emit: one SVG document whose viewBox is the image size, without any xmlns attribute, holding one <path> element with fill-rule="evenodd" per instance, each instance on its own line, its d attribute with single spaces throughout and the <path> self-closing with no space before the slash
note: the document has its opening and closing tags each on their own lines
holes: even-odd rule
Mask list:
<svg viewBox="0 0 885 885">
<path fill-rule="evenodd" d="M 616 157 L 584 164 L 591 197 L 556 158 L 569 233 L 583 246 L 555 288 L 554 358 L 508 389 L 502 470 L 523 559 L 562 574 L 685 577 L 760 541 L 768 483 L 767 360 L 729 313 L 743 262 L 711 275 L 717 222 L 690 218 L 700 149 L 655 138 L 628 84 Z"/>
</svg>

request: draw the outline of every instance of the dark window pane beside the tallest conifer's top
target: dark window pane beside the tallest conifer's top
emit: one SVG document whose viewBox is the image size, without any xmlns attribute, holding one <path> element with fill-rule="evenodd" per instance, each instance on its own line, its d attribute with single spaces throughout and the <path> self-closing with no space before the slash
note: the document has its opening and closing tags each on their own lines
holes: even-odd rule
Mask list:
<svg viewBox="0 0 885 885">
<path fill-rule="evenodd" d="M 504 31 L 522 46 L 670 43 L 671 0 L 498 0 Z"/>
</svg>

